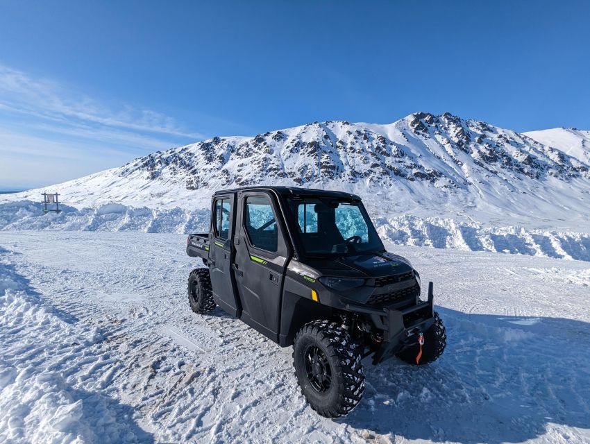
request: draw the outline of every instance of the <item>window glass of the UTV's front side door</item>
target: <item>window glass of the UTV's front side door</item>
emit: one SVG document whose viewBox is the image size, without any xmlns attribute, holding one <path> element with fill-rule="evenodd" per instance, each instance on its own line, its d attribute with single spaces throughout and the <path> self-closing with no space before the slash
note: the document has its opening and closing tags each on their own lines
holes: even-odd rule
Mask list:
<svg viewBox="0 0 590 444">
<path fill-rule="evenodd" d="M 276 252 L 278 230 L 273 214 L 273 208 L 267 197 L 246 198 L 246 231 L 253 246 Z"/>
</svg>

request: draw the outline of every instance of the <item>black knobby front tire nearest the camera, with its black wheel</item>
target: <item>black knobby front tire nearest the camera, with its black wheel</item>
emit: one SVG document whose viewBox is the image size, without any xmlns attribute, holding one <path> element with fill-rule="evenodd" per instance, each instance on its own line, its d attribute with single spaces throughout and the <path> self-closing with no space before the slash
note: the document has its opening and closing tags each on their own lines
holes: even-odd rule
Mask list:
<svg viewBox="0 0 590 444">
<path fill-rule="evenodd" d="M 303 325 L 295 337 L 293 364 L 301 393 L 321 416 L 344 416 L 360 402 L 364 391 L 361 350 L 337 323 Z"/>
</svg>

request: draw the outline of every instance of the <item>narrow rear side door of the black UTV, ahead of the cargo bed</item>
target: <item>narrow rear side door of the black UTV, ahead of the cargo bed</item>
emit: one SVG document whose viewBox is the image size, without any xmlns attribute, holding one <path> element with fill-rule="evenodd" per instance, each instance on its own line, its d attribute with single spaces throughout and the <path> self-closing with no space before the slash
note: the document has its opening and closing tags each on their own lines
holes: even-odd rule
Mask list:
<svg viewBox="0 0 590 444">
<path fill-rule="evenodd" d="M 211 214 L 209 262 L 213 298 L 228 314 L 239 316 L 239 300 L 235 293 L 235 278 L 231 272 L 233 260 L 232 234 L 235 226 L 235 195 L 215 196 Z"/>
</svg>

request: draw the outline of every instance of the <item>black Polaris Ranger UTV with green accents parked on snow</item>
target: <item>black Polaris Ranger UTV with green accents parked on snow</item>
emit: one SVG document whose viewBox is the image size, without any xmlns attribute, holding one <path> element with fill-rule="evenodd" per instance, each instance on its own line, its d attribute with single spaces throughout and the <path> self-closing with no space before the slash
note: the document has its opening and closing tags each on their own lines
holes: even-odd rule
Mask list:
<svg viewBox="0 0 590 444">
<path fill-rule="evenodd" d="M 364 390 L 361 359 L 435 361 L 444 325 L 420 299 L 420 275 L 387 253 L 358 196 L 292 187 L 217 191 L 208 233 L 189 234 L 189 304 L 219 305 L 282 347 L 322 416 L 344 416 Z"/>
</svg>

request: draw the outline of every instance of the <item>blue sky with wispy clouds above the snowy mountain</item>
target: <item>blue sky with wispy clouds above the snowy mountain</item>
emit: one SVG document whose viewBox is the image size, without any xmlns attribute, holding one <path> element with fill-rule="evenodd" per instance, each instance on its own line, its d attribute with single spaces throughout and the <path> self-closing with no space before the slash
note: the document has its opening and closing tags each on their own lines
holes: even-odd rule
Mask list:
<svg viewBox="0 0 590 444">
<path fill-rule="evenodd" d="M 3 1 L 0 189 L 309 121 L 590 129 L 589 17 L 584 1 Z"/>
</svg>

